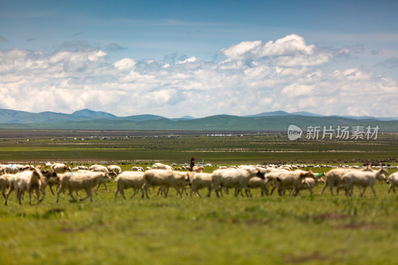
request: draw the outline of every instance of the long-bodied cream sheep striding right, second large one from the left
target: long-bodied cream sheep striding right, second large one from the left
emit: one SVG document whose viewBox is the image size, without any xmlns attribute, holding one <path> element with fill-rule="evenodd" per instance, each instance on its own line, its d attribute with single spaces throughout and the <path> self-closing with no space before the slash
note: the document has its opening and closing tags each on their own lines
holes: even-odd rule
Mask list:
<svg viewBox="0 0 398 265">
<path fill-rule="evenodd" d="M 80 199 L 83 201 L 90 197 L 90 201 L 93 201 L 92 197 L 92 189 L 95 188 L 100 183 L 105 181 L 110 181 L 110 177 L 107 173 L 104 172 L 86 172 L 86 173 L 64 173 L 59 175 L 60 177 L 60 188 L 57 193 L 56 202 L 59 201 L 59 195 L 63 192 L 66 188 L 69 190 L 69 195 L 72 197 L 73 201 L 77 201 L 76 198 L 73 196 L 73 191 L 78 191 L 81 189 L 86 190 L 87 197 Z"/>
</svg>

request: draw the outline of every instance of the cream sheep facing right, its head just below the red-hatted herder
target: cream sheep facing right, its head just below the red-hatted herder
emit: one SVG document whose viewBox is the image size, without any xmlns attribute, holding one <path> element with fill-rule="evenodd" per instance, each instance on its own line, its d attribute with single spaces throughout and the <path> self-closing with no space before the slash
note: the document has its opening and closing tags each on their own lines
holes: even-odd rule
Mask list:
<svg viewBox="0 0 398 265">
<path fill-rule="evenodd" d="M 191 177 L 188 172 L 178 172 L 169 170 L 152 169 L 146 171 L 144 174 L 145 186 L 165 186 L 174 187 L 177 190 L 177 194 L 183 197 L 180 187 L 184 187 L 186 184 L 191 184 Z M 165 198 L 167 197 L 168 189 L 165 190 Z M 146 197 L 148 198 L 147 189 L 145 189 Z"/>
</svg>

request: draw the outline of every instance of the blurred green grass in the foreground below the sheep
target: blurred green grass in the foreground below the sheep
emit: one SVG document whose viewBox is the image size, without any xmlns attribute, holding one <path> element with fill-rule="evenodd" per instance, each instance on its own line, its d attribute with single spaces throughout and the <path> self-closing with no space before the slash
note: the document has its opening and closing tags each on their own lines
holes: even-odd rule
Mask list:
<svg viewBox="0 0 398 265">
<path fill-rule="evenodd" d="M 0 206 L 0 264 L 397 264 L 398 197 L 343 194 L 114 200 Z M 126 190 L 126 196 L 131 194 Z M 204 195 L 206 190 L 201 190 Z M 83 191 L 80 195 L 85 195 Z"/>
</svg>

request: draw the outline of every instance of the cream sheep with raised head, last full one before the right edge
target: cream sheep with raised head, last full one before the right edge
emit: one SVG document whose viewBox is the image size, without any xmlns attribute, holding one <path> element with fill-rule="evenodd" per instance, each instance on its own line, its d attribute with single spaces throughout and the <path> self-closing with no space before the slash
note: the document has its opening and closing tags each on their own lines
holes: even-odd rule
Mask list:
<svg viewBox="0 0 398 265">
<path fill-rule="evenodd" d="M 373 186 L 376 183 L 376 179 L 385 180 L 387 182 L 387 178 L 384 174 L 388 174 L 389 172 L 381 168 L 380 170 L 373 172 L 373 171 L 351 171 L 344 174 L 343 179 L 346 183 L 346 195 L 352 196 L 352 191 L 355 186 L 363 187 L 364 189 L 361 190 L 361 197 L 363 196 L 365 189 L 370 186 L 373 192 L 373 195 L 376 197 L 376 192 Z"/>
</svg>

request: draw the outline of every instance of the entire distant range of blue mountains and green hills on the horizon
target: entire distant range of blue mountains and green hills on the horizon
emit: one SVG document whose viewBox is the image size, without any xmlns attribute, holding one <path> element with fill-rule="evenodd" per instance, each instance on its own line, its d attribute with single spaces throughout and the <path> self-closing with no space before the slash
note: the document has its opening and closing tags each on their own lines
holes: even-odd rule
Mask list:
<svg viewBox="0 0 398 265">
<path fill-rule="evenodd" d="M 343 125 L 379 126 L 383 131 L 398 131 L 397 117 L 323 116 L 310 112 L 288 113 L 281 110 L 247 116 L 223 114 L 204 118 L 166 118 L 150 114 L 117 117 L 90 109 L 82 109 L 72 114 L 0 109 L 0 128 L 286 131 L 291 124 L 304 130 L 308 126 L 337 128 Z"/>
</svg>

